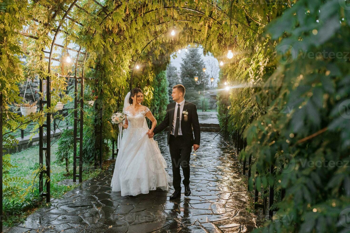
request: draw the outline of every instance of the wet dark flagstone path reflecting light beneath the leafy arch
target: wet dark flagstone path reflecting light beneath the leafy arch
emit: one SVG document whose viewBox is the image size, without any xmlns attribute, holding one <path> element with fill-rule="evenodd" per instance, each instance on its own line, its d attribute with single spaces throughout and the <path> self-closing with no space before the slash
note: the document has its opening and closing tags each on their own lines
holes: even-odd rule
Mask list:
<svg viewBox="0 0 350 233">
<path fill-rule="evenodd" d="M 203 132 L 200 150 L 191 155 L 190 197 L 169 201 L 172 185 L 168 192 L 122 197 L 111 191 L 113 165 L 9 232 L 251 232 L 256 217 L 246 211 L 241 165 L 230 142 L 215 135 Z M 166 134 L 155 140 L 172 175 Z"/>
</svg>

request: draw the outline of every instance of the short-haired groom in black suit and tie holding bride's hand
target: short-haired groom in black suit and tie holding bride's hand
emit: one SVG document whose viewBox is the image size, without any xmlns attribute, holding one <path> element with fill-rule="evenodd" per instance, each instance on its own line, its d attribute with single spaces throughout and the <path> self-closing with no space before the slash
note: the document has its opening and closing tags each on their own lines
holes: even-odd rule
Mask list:
<svg viewBox="0 0 350 233">
<path fill-rule="evenodd" d="M 175 192 L 169 199 L 176 199 L 181 196 L 181 175 L 182 168 L 185 186 L 185 196 L 191 195 L 190 190 L 190 155 L 193 149 L 196 151 L 200 145 L 201 129 L 198 121 L 196 105 L 184 100 L 185 87 L 181 84 L 173 87 L 174 103 L 169 103 L 164 120 L 160 123 L 149 137 L 163 131 L 169 126 L 168 145 L 173 167 L 173 186 Z M 193 138 L 193 132 L 194 138 Z"/>
</svg>

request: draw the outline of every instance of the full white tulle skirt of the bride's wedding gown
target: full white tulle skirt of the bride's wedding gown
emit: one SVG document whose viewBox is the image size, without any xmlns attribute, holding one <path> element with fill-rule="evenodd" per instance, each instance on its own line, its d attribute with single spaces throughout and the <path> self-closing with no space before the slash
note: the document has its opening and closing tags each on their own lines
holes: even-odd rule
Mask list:
<svg viewBox="0 0 350 233">
<path fill-rule="evenodd" d="M 169 190 L 167 163 L 160 153 L 158 142 L 148 138 L 148 129 L 125 129 L 116 158 L 112 191 L 121 196 L 147 194 L 160 188 Z"/>
</svg>

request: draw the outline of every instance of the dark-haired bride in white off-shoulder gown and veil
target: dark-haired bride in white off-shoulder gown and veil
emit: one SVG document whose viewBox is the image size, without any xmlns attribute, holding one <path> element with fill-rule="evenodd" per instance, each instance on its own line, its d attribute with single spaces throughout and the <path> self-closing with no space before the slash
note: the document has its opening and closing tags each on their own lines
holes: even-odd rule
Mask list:
<svg viewBox="0 0 350 233">
<path fill-rule="evenodd" d="M 167 164 L 157 141 L 147 134 L 153 132 L 157 121 L 152 112 L 141 105 L 143 99 L 142 90 L 134 88 L 124 101 L 125 130 L 111 181 L 112 191 L 121 191 L 121 196 L 147 194 L 156 188 L 169 190 Z M 145 116 L 152 121 L 151 129 L 148 129 Z"/>
</svg>

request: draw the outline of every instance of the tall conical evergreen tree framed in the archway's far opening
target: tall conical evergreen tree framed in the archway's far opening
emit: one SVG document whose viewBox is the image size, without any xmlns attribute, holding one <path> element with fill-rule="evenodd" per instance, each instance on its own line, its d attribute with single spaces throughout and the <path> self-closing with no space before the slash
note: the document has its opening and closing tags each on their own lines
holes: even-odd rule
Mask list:
<svg viewBox="0 0 350 233">
<path fill-rule="evenodd" d="M 203 91 L 203 84 L 197 85 L 194 77 L 200 79 L 203 74 L 204 61 L 197 48 L 190 48 L 181 62 L 181 83 L 186 88 L 186 100 L 199 104 L 200 95 L 198 91 Z M 207 84 L 207 83 L 206 83 Z M 206 85 L 207 86 L 207 85 Z"/>
</svg>

